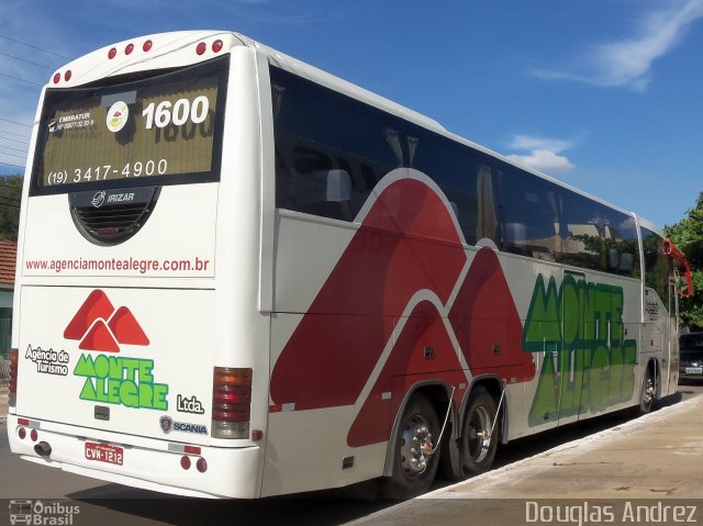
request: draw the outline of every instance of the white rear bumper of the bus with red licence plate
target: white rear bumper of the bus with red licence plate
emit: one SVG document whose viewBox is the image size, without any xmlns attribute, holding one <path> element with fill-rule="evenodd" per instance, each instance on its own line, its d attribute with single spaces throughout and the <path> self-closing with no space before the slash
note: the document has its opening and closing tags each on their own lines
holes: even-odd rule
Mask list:
<svg viewBox="0 0 703 526">
<path fill-rule="evenodd" d="M 208 499 L 255 499 L 260 490 L 263 450 L 197 446 L 185 452 L 177 443 L 111 433 L 90 438 L 82 427 L 31 421 L 23 426 L 8 415 L 10 449 L 25 460 L 143 490 Z M 56 427 L 60 430 L 55 429 Z M 24 438 L 20 429 L 24 428 Z M 53 429 L 54 428 L 54 429 Z M 36 439 L 32 439 L 36 430 Z M 138 444 L 135 444 L 138 443 Z M 41 445 L 41 447 L 36 447 Z M 48 455 L 40 455 L 51 448 Z M 38 449 L 38 451 L 37 451 Z M 42 451 L 44 449 L 44 451 Z M 198 452 L 199 451 L 199 452 Z M 187 458 L 188 460 L 183 460 Z M 200 461 L 199 469 L 199 460 Z M 207 467 L 204 471 L 202 468 Z M 63 495 L 56 495 L 57 497 Z"/>
</svg>

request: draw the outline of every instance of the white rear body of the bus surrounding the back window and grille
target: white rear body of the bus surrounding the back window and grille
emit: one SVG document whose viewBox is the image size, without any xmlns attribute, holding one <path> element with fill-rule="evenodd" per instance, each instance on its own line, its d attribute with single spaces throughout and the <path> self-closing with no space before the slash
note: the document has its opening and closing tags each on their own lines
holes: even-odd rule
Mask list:
<svg viewBox="0 0 703 526">
<path fill-rule="evenodd" d="M 194 44 L 217 35 L 196 32 L 176 63 L 164 55 L 148 67 L 197 61 Z M 253 369 L 250 428 L 266 437 L 268 419 L 270 316 L 258 309 L 263 160 L 256 53 L 234 36 L 224 40 L 233 48 L 219 182 L 161 187 L 146 224 L 112 247 L 93 245 L 77 231 L 66 194 L 27 197 L 25 184 L 13 333 L 21 351 L 8 425 L 12 451 L 45 462 L 30 438 L 36 428 L 38 441 L 52 446 L 54 466 L 67 471 L 181 495 L 260 495 L 266 440 L 211 437 L 215 366 Z M 110 47 L 90 59 L 104 60 Z M 71 64 L 74 72 L 80 61 Z M 118 69 L 115 75 L 134 70 Z M 86 328 L 82 334 L 67 331 L 86 303 L 102 306 L 97 313 L 85 309 L 83 325 L 77 325 Z M 126 310 L 130 331 L 113 320 Z M 136 333 L 137 343 L 125 331 Z M 122 378 L 105 385 L 99 380 L 110 377 L 110 366 L 114 377 L 122 366 Z M 136 406 L 142 381 L 144 393 L 149 383 L 159 384 L 158 400 L 144 394 L 150 406 Z M 121 391 L 126 382 L 134 385 Z M 20 426 L 26 427 L 24 439 Z M 123 463 L 88 458 L 86 441 L 123 447 Z M 189 470 L 180 466 L 185 446 L 201 450 L 191 455 Z M 205 473 L 196 470 L 199 457 L 208 462 Z"/>
</svg>

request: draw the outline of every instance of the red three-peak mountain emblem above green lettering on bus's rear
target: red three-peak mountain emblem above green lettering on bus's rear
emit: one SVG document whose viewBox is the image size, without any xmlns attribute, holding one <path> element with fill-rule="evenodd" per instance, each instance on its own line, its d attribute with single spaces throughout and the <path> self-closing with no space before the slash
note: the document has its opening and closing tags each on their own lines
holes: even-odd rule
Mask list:
<svg viewBox="0 0 703 526">
<path fill-rule="evenodd" d="M 126 306 L 115 309 L 108 295 L 93 290 L 64 331 L 81 350 L 120 352 L 123 345 L 149 345 L 149 338 Z"/>
</svg>

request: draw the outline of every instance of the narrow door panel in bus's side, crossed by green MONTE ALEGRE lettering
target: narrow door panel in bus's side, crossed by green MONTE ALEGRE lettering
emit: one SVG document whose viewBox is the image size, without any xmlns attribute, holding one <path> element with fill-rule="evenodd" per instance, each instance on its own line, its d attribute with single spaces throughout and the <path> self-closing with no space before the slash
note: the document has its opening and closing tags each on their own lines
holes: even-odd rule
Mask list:
<svg viewBox="0 0 703 526">
<path fill-rule="evenodd" d="M 588 299 L 585 275 L 563 271 L 561 287 L 561 351 L 559 352 L 559 425 L 579 418 L 583 392 Z"/>
</svg>

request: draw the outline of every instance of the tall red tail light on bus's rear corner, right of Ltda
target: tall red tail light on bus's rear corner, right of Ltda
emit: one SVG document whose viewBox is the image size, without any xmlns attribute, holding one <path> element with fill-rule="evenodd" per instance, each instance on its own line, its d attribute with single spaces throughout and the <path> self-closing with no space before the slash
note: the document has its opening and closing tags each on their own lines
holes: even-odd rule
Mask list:
<svg viewBox="0 0 703 526">
<path fill-rule="evenodd" d="M 212 379 L 212 436 L 248 438 L 252 369 L 215 367 Z"/>
</svg>

